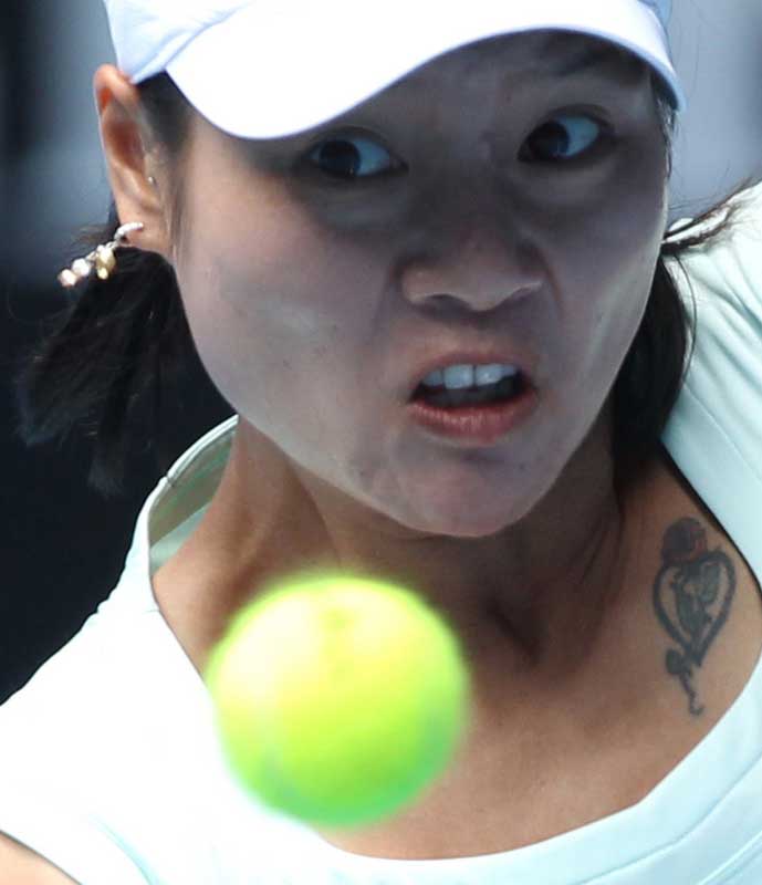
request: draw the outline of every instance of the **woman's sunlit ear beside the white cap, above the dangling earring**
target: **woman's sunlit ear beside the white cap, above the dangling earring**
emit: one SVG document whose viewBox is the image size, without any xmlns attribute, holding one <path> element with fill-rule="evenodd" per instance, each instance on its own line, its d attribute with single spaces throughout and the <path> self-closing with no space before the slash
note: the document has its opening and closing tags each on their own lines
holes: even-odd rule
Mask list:
<svg viewBox="0 0 762 885">
<path fill-rule="evenodd" d="M 158 252 L 171 263 L 170 207 L 161 190 L 149 181 L 159 169 L 155 149 L 147 146 L 147 131 L 137 87 L 111 64 L 95 72 L 93 90 L 100 116 L 101 144 L 112 192 L 122 225 L 142 221 L 142 231 L 129 235 L 131 246 Z"/>
</svg>

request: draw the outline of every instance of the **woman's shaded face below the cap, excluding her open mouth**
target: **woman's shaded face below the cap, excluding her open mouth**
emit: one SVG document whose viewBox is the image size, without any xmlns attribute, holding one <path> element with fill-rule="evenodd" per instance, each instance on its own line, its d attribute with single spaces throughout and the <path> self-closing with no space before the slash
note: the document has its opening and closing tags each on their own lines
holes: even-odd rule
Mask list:
<svg viewBox="0 0 762 885">
<path fill-rule="evenodd" d="M 553 75 L 591 45 L 468 46 L 293 137 L 196 118 L 174 260 L 198 351 L 242 426 L 347 508 L 492 534 L 598 419 L 648 300 L 666 154 L 644 66 Z M 407 409 L 421 364 L 473 347 L 525 355 L 539 394 L 487 448 Z"/>
</svg>

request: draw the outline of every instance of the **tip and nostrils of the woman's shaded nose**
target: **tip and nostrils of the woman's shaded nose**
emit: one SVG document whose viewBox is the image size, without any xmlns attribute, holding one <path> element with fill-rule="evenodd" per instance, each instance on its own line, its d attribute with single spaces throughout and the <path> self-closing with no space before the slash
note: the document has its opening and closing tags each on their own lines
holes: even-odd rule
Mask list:
<svg viewBox="0 0 762 885">
<path fill-rule="evenodd" d="M 405 262 L 403 294 L 415 306 L 451 302 L 474 312 L 525 298 L 542 287 L 543 277 L 536 253 L 513 235 L 471 223 L 446 242 L 430 241 Z"/>
</svg>

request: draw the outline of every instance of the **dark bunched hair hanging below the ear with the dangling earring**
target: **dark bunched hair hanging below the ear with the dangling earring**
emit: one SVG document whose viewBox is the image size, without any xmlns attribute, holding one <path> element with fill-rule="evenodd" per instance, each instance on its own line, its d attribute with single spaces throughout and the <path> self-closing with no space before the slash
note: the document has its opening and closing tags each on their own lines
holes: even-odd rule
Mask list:
<svg viewBox="0 0 762 885">
<path fill-rule="evenodd" d="M 90 229 L 74 254 L 113 239 L 119 225 Z M 77 428 L 94 440 L 90 483 L 118 490 L 138 406 L 160 426 L 163 392 L 195 357 L 173 268 L 153 252 L 122 247 L 108 280 L 92 274 L 20 374 L 20 431 L 30 445 L 63 439 Z"/>
</svg>

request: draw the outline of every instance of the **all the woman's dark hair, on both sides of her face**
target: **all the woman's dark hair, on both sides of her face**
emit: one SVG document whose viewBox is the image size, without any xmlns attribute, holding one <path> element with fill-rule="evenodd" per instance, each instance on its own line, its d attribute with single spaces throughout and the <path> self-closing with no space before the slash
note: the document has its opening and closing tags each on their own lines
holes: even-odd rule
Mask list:
<svg viewBox="0 0 762 885">
<path fill-rule="evenodd" d="M 661 122 L 668 174 L 676 115 L 664 84 L 651 74 Z M 170 77 L 158 74 L 139 86 L 147 121 L 169 158 L 180 156 L 194 113 Z M 721 202 L 670 232 L 654 275 L 641 325 L 613 388 L 615 488 L 620 497 L 659 450 L 660 437 L 683 381 L 688 314 L 665 263 L 729 230 L 737 206 L 728 201 L 753 184 L 742 183 Z M 729 211 L 726 214 L 726 209 Z M 721 217 L 722 216 L 722 217 Z M 693 227 L 718 219 L 696 231 Z M 103 227 L 82 231 L 72 257 L 111 240 L 118 227 L 114 205 Z M 688 231 L 688 233 L 686 233 Z M 165 385 L 197 360 L 173 268 L 158 254 L 118 252 L 117 270 L 105 282 L 81 284 L 53 320 L 19 379 L 20 433 L 29 445 L 63 439 L 74 428 L 94 439 L 90 483 L 103 492 L 119 488 L 131 440 L 127 433 L 138 403 L 153 402 L 149 435 L 160 449 Z M 166 470 L 168 464 L 160 465 Z"/>
</svg>

